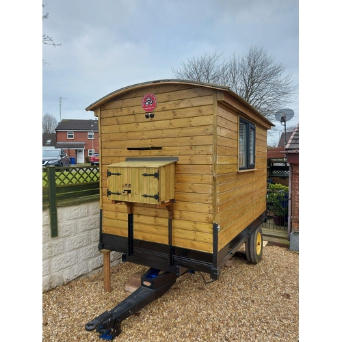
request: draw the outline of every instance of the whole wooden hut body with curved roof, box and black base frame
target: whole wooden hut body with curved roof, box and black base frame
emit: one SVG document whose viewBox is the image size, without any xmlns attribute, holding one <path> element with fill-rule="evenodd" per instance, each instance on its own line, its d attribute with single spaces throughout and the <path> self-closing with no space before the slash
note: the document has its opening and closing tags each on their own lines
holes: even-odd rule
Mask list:
<svg viewBox="0 0 342 342">
<path fill-rule="evenodd" d="M 86 110 L 98 118 L 99 249 L 217 279 L 265 218 L 273 124 L 228 87 L 182 80 L 122 88 Z"/>
</svg>

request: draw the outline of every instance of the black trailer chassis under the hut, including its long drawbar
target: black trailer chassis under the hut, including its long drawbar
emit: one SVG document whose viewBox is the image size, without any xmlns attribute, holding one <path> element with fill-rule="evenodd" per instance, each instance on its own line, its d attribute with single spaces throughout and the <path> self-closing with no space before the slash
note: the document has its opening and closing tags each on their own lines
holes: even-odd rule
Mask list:
<svg viewBox="0 0 342 342">
<path fill-rule="evenodd" d="M 160 298 L 174 285 L 176 278 L 179 276 L 187 272 L 194 273 L 200 271 L 209 273 L 211 280 L 218 280 L 220 267 L 233 257 L 233 254 L 237 252 L 242 244 L 250 241 L 250 237 L 253 237 L 260 229 L 259 226 L 263 220 L 265 220 L 265 215 L 261 215 L 257 220 L 254 220 L 252 224 L 247 226 L 244 231 L 241 231 L 220 252 L 218 252 L 217 247 L 214 248 L 213 254 L 194 253 L 183 248 L 172 248 L 171 258 L 169 250 L 159 250 L 160 244 L 147 243 L 148 245 L 146 246 L 145 241 L 137 241 L 133 237 L 131 239 L 116 237 L 116 242 L 112 244 L 114 241 L 109 235 L 101 234 L 101 242 L 98 244 L 99 250 L 108 248 L 109 250 L 124 253 L 128 249 L 128 252 L 122 254 L 122 261 L 146 265 L 150 269 L 142 275 L 141 286 L 138 289 L 112 308 L 111 311 L 105 311 L 88 322 L 85 326 L 86 330 L 96 330 L 100 334 L 101 339 L 112 340 L 120 334 L 121 323 L 124 319 Z M 218 245 L 218 231 L 218 224 L 213 224 L 214 246 Z M 108 237 L 109 240 L 107 239 Z M 120 250 L 122 247 L 124 249 Z M 157 247 L 157 250 L 152 247 Z"/>
</svg>

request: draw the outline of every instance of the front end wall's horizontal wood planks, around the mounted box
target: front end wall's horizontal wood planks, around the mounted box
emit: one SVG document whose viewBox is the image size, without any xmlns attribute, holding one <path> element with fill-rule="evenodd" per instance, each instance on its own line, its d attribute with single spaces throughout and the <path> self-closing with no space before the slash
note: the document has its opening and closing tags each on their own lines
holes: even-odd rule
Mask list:
<svg viewBox="0 0 342 342">
<path fill-rule="evenodd" d="M 156 89 L 148 90 L 158 101 L 153 120 L 146 120 L 141 107 L 144 90 L 101 106 L 103 232 L 127 237 L 126 205 L 114 205 L 106 196 L 107 166 L 127 157 L 176 156 L 172 244 L 212 252 L 213 90 Z M 153 146 L 161 149 L 127 149 Z M 135 203 L 132 213 L 135 239 L 168 244 L 166 208 Z"/>
</svg>

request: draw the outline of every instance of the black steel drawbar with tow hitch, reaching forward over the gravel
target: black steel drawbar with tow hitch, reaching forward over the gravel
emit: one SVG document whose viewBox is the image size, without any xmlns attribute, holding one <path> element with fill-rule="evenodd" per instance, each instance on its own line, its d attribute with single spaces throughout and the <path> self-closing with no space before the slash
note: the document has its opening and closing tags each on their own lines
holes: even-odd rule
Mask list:
<svg viewBox="0 0 342 342">
<path fill-rule="evenodd" d="M 160 298 L 174 283 L 177 275 L 170 272 L 159 274 L 159 269 L 150 268 L 142 276 L 142 285 L 111 311 L 105 311 L 86 324 L 87 331 L 100 334 L 101 339 L 112 340 L 121 332 L 121 322 L 140 311 L 144 306 Z"/>
</svg>

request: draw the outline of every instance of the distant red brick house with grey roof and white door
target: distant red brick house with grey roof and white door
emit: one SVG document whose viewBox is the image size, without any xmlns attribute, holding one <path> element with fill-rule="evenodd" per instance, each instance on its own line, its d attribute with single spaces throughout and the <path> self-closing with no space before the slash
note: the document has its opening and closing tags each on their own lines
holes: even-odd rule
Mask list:
<svg viewBox="0 0 342 342">
<path fill-rule="evenodd" d="M 86 163 L 86 157 L 98 153 L 97 120 L 63 119 L 55 131 L 55 148 L 63 148 L 76 163 Z"/>
</svg>

